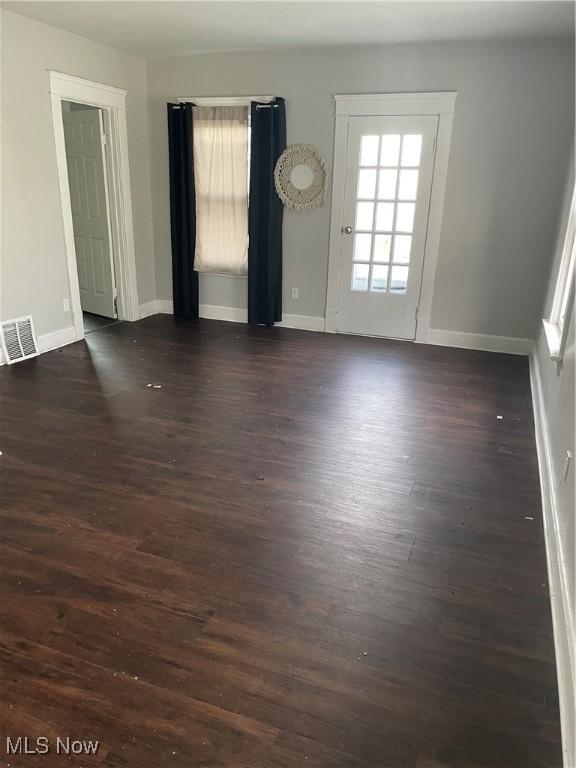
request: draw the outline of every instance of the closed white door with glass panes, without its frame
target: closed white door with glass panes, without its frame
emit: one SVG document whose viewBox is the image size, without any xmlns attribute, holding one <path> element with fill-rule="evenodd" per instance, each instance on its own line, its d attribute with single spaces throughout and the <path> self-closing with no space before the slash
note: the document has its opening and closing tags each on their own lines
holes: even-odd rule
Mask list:
<svg viewBox="0 0 576 768">
<path fill-rule="evenodd" d="M 350 117 L 337 330 L 414 339 L 438 117 Z"/>
</svg>

